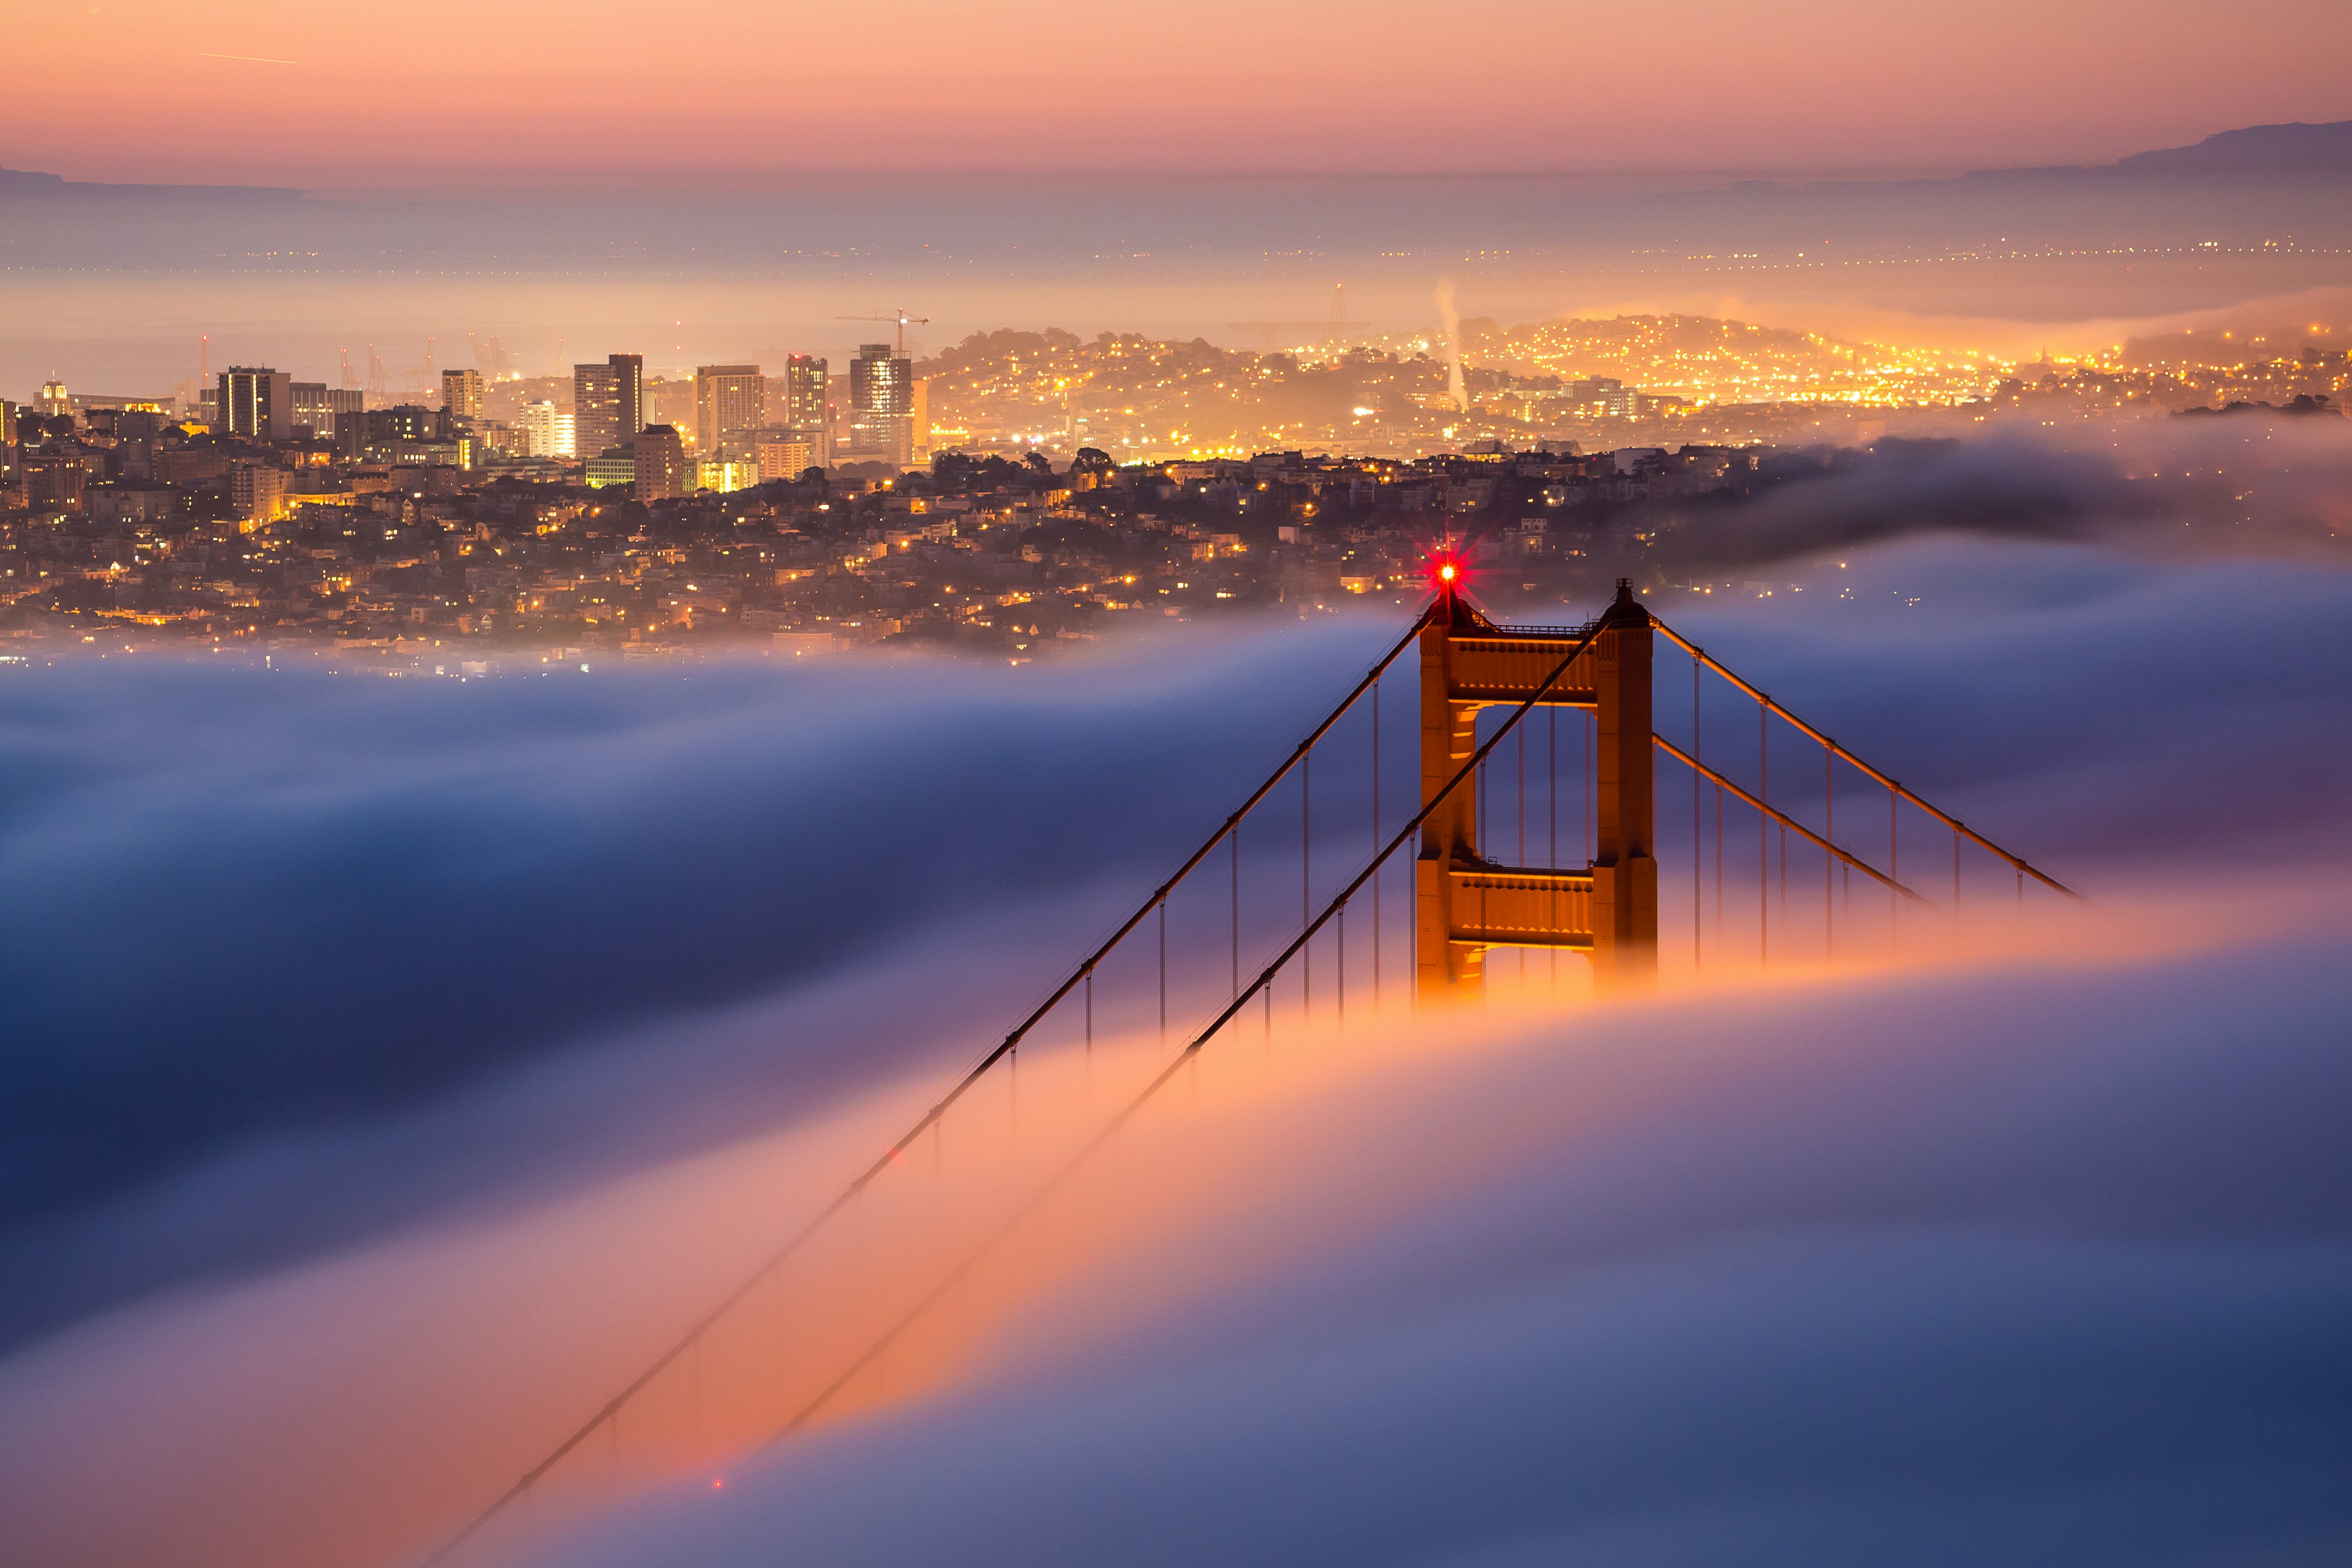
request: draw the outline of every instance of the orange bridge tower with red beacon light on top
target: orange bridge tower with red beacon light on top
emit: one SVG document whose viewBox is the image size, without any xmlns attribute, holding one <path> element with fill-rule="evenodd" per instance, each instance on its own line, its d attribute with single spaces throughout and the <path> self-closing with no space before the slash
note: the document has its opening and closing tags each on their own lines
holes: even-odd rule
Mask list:
<svg viewBox="0 0 2352 1568">
<path fill-rule="evenodd" d="M 1477 776 L 1442 802 L 1477 750 L 1479 708 L 1517 708 L 1592 635 L 1543 693 L 1548 708 L 1597 717 L 1595 853 L 1583 870 L 1498 865 L 1477 844 Z M 1439 583 L 1421 628 L 1421 804 L 1414 865 L 1414 971 L 1423 999 L 1475 997 L 1489 947 L 1566 947 L 1592 957 L 1602 990 L 1658 976 L 1656 769 L 1651 764 L 1651 618 L 1618 583 L 1595 625 L 1496 625 Z"/>
</svg>

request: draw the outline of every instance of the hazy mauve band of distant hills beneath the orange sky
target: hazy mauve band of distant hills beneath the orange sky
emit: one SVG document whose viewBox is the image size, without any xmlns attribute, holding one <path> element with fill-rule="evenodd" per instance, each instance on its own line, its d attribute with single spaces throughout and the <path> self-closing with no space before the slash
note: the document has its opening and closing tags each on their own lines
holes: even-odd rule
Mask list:
<svg viewBox="0 0 2352 1568">
<path fill-rule="evenodd" d="M 957 254 L 1023 275 L 1044 263 L 1098 268 L 1120 256 L 1190 259 L 1150 261 L 1181 270 L 1211 256 L 1272 254 L 1390 270 L 1381 259 L 1437 256 L 1458 240 L 1505 256 L 1573 259 L 1595 273 L 1646 280 L 1658 268 L 1689 268 L 1745 287 L 1766 270 L 1849 259 L 2145 249 L 2150 261 L 2119 263 L 2114 275 L 2077 268 L 2067 287 L 2079 294 L 2063 310 L 2152 315 L 2340 287 L 2343 252 L 2352 252 L 2352 122 L 2256 125 L 2100 167 L 1933 179 L 1644 188 L 1583 174 L 971 174 L 953 186 L 957 195 L 946 205 L 938 179 L 915 174 L 811 174 L 739 195 L 616 188 L 365 200 L 266 186 L 106 186 L 0 169 L 0 266 L 783 268 L 837 287 L 870 261 L 934 266 L 943 223 Z M 2270 244 L 2281 235 L 2296 240 L 2293 254 Z M 2223 256 L 2192 259 L 2192 247 Z M 1980 294 L 1971 310 L 2058 308 L 2046 275 L 1980 275 L 1976 284 L 2018 303 L 1992 306 Z M 1947 301 L 1936 289 L 1922 294 L 1917 280 L 1886 287 L 1900 308 Z"/>
</svg>

